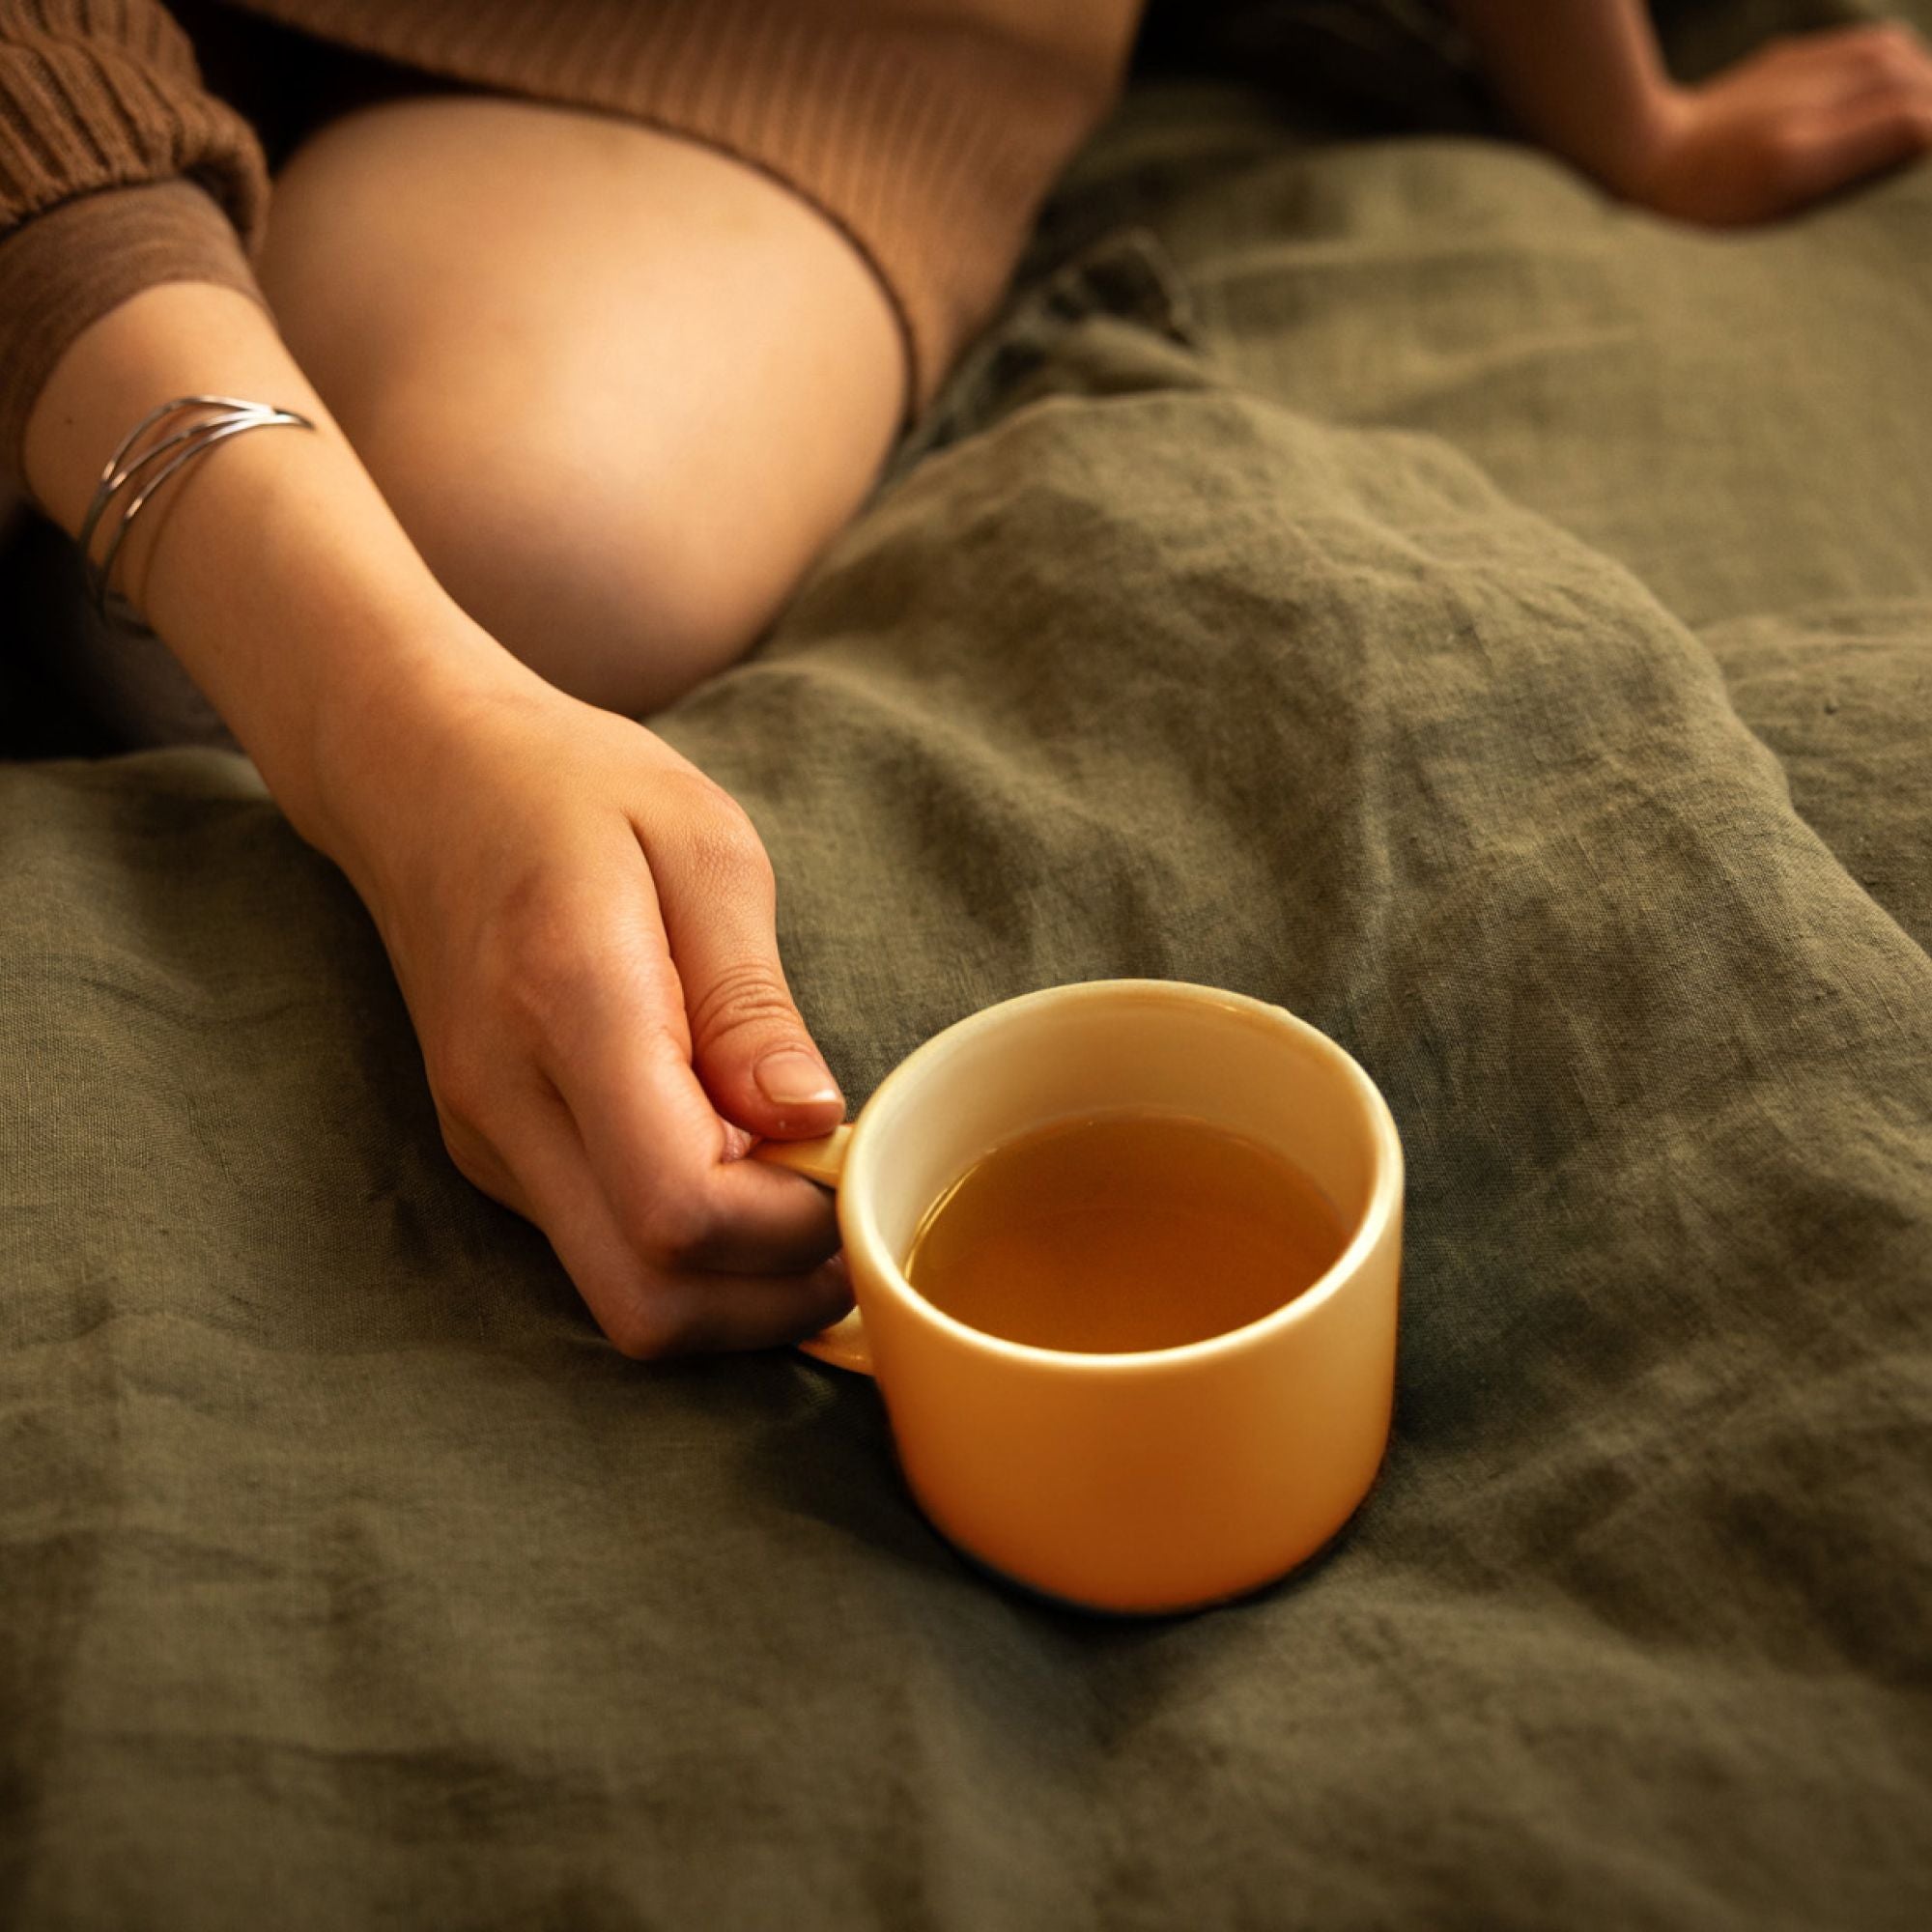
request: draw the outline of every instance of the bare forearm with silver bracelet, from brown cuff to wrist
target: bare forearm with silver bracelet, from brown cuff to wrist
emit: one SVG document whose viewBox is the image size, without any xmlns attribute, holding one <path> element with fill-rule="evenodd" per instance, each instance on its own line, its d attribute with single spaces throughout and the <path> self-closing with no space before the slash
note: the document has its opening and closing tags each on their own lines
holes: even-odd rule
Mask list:
<svg viewBox="0 0 1932 1932">
<path fill-rule="evenodd" d="M 384 755 L 384 732 L 466 682 L 529 674 L 429 574 L 270 319 L 234 290 L 158 284 L 75 338 L 27 419 L 43 508 L 77 533 L 120 439 L 197 392 L 272 402 L 317 431 L 259 429 L 199 454 L 129 526 L 114 585 L 298 831 L 340 856 L 342 788 Z"/>
</svg>

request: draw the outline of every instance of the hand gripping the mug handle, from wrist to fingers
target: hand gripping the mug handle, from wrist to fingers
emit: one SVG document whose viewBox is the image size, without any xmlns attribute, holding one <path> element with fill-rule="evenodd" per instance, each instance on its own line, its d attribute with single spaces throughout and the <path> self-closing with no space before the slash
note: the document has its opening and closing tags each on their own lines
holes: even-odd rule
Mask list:
<svg viewBox="0 0 1932 1932">
<path fill-rule="evenodd" d="M 551 1236 L 624 1354 L 773 1347 L 844 1314 L 829 1196 L 744 1159 L 844 1101 L 738 804 L 522 667 L 352 755 L 328 846 L 462 1173 Z"/>
</svg>

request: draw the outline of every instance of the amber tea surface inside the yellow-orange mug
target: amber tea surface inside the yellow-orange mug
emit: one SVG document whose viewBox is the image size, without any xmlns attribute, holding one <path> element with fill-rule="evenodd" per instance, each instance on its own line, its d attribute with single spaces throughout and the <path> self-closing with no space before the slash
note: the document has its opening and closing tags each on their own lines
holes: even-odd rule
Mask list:
<svg viewBox="0 0 1932 1932">
<path fill-rule="evenodd" d="M 920 1223 L 906 1279 L 987 1335 L 1132 1354 L 1258 1321 L 1345 1244 L 1279 1153 L 1202 1121 L 1101 1115 L 968 1169 Z"/>
</svg>

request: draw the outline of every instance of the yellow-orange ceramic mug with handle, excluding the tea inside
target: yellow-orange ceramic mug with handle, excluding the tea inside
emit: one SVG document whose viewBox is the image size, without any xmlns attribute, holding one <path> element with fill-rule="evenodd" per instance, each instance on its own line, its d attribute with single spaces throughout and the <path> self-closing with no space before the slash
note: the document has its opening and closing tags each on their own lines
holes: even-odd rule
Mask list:
<svg viewBox="0 0 1932 1932">
<path fill-rule="evenodd" d="M 1349 1231 L 1335 1265 L 1258 1321 L 1132 1354 L 987 1335 L 906 1281 L 927 1209 L 993 1148 L 1136 1109 L 1285 1155 Z M 877 1378 L 906 1486 L 983 1569 L 1082 1609 L 1198 1609 L 1291 1571 L 1368 1493 L 1403 1150 L 1368 1074 L 1281 1007 L 1171 980 L 1028 993 L 935 1034 L 848 1126 L 757 1155 L 837 1186 L 856 1306 L 800 1347 Z"/>
</svg>

